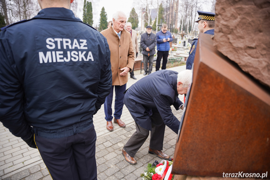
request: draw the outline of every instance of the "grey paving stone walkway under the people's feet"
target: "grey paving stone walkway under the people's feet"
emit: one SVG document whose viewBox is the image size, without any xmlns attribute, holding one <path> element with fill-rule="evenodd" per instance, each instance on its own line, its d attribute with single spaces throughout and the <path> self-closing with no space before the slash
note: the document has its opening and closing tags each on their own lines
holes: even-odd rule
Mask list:
<svg viewBox="0 0 270 180">
<path fill-rule="evenodd" d="M 170 68 L 170 70 L 182 71 L 186 66 Z M 140 70 L 135 71 L 137 80 L 144 76 Z M 129 78 L 127 88 L 137 80 Z M 183 95 L 179 95 L 183 101 Z M 173 114 L 180 120 L 182 110 L 176 111 L 173 106 Z M 114 108 L 114 107 L 113 107 Z M 140 174 L 146 169 L 147 163 L 155 160 L 161 161 L 156 155 L 149 154 L 150 136 L 135 155 L 137 164 L 132 165 L 125 161 L 122 148 L 130 136 L 135 132 L 135 123 L 129 111 L 124 106 L 121 119 L 126 127 L 120 128 L 114 124 L 114 131 L 106 129 L 104 119 L 104 106 L 94 115 L 94 126 L 97 133 L 96 162 L 98 179 L 141 179 Z M 173 156 L 176 144 L 176 134 L 166 126 L 163 152 Z M 18 137 L 13 136 L 7 128 L 0 123 L 0 179 L 2 180 L 51 180 L 49 172 L 37 149 L 28 145 Z"/>
</svg>

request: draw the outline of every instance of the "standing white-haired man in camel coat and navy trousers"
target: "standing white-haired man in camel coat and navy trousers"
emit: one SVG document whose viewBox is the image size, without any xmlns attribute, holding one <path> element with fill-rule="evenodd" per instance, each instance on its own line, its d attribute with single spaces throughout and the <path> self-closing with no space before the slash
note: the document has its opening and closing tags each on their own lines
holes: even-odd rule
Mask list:
<svg viewBox="0 0 270 180">
<path fill-rule="evenodd" d="M 128 72 L 131 72 L 134 65 L 134 51 L 130 33 L 124 27 L 126 23 L 126 15 L 123 12 L 116 12 L 113 15 L 113 26 L 101 31 L 101 34 L 107 39 L 110 48 L 110 60 L 112 66 L 112 87 L 110 94 L 106 97 L 104 103 L 105 119 L 107 121 L 107 129 L 113 131 L 112 125 L 112 100 L 113 90 L 115 88 L 115 112 L 114 122 L 120 127 L 125 127 L 125 123 L 121 121 L 123 110 L 124 91 L 128 81 Z"/>
</svg>

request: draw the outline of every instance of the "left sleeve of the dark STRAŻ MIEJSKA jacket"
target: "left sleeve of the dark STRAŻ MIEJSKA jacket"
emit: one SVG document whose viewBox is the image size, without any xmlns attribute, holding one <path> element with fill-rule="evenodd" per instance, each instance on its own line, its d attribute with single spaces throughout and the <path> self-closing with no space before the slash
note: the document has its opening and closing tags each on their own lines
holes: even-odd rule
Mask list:
<svg viewBox="0 0 270 180">
<path fill-rule="evenodd" d="M 23 114 L 24 92 L 5 31 L 0 33 L 0 121 L 14 135 L 27 138 L 31 126 Z"/>
</svg>

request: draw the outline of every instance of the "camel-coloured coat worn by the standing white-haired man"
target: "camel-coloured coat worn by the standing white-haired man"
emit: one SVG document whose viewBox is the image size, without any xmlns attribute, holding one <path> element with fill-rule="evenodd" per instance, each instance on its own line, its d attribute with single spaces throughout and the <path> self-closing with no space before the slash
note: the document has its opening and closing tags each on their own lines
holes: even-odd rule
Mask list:
<svg viewBox="0 0 270 180">
<path fill-rule="evenodd" d="M 128 67 L 132 71 L 135 57 L 130 33 L 124 29 L 119 39 L 112 26 L 100 33 L 107 39 L 111 52 L 112 85 L 124 85 L 128 82 L 128 74 L 120 76 L 123 72 L 120 69 Z"/>
</svg>

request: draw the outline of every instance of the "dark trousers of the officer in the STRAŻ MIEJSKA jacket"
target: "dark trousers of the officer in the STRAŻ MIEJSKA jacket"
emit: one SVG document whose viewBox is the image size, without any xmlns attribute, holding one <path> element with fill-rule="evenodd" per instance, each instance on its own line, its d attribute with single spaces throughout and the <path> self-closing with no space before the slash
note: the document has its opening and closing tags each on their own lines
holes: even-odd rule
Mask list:
<svg viewBox="0 0 270 180">
<path fill-rule="evenodd" d="M 38 151 L 53 180 L 96 180 L 94 125 L 62 138 L 34 136 Z"/>
</svg>

